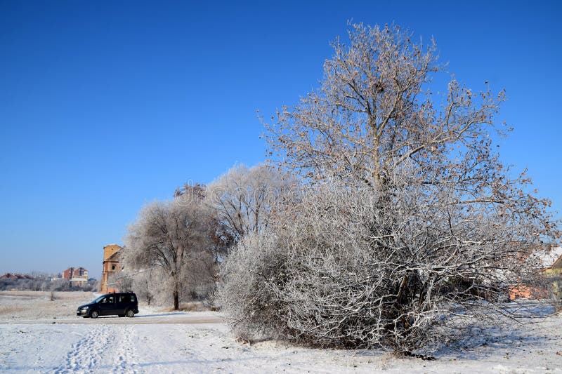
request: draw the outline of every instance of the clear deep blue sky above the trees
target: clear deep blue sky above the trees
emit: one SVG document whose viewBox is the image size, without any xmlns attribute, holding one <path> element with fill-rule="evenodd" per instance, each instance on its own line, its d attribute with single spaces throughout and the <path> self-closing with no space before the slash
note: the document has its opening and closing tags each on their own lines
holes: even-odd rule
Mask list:
<svg viewBox="0 0 562 374">
<path fill-rule="evenodd" d="M 99 279 L 144 203 L 262 161 L 256 109 L 318 86 L 347 20 L 434 36 L 459 81 L 505 88 L 502 159 L 562 211 L 558 1 L 201 3 L 0 0 L 0 274 Z"/>
</svg>

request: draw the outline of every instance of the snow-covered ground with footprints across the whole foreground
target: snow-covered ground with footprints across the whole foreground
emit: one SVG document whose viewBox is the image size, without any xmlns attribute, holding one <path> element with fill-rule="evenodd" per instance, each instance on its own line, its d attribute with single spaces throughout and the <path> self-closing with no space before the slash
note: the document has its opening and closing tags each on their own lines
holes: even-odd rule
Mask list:
<svg viewBox="0 0 562 374">
<path fill-rule="evenodd" d="M 561 314 L 514 323 L 492 340 L 423 361 L 379 350 L 242 344 L 216 312 L 163 313 L 141 306 L 132 319 L 73 315 L 92 299 L 91 293 L 61 293 L 54 302 L 46 293 L 0 293 L 0 372 L 562 373 Z M 66 312 L 56 305 L 66 305 Z"/>
</svg>

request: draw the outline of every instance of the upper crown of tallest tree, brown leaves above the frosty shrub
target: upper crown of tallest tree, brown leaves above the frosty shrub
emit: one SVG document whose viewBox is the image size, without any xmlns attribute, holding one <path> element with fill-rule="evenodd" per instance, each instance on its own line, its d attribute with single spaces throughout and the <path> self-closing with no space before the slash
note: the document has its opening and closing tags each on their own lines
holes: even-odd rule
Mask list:
<svg viewBox="0 0 562 374">
<path fill-rule="evenodd" d="M 525 245 L 559 236 L 551 202 L 530 191 L 525 171 L 513 176 L 492 147 L 492 135 L 510 130 L 494 121 L 503 92 L 476 93 L 452 80 L 444 95 L 433 93 L 432 76 L 443 70 L 435 44 L 416 43 L 398 26 L 353 25 L 349 44 L 333 46 L 320 88 L 267 125 L 283 166 L 311 182 L 338 178 L 372 189 L 381 199 L 395 193 L 393 175 L 407 167 L 424 193 L 449 189 L 451 205 L 497 214 L 506 227 L 519 227 Z"/>
</svg>

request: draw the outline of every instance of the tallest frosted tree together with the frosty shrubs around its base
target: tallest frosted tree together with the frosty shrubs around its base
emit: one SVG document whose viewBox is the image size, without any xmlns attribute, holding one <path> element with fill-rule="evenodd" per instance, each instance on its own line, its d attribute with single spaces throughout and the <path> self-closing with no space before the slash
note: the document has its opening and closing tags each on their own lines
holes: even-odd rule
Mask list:
<svg viewBox="0 0 562 374">
<path fill-rule="evenodd" d="M 434 94 L 435 51 L 353 25 L 320 88 L 266 125 L 273 161 L 309 188 L 223 266 L 239 335 L 428 351 L 507 312 L 509 288 L 535 274 L 540 240 L 559 232 L 493 151 L 504 94 L 455 80 Z"/>
</svg>

